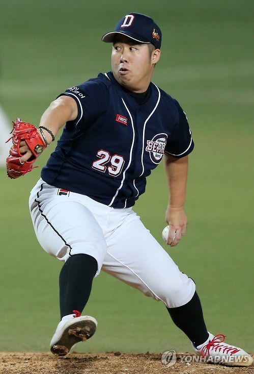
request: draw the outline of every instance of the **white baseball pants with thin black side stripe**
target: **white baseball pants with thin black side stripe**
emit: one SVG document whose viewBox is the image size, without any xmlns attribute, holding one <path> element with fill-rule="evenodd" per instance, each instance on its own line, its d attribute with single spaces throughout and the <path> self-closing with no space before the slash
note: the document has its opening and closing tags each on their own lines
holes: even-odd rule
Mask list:
<svg viewBox="0 0 254 374">
<path fill-rule="evenodd" d="M 132 208 L 111 208 L 42 179 L 31 191 L 29 205 L 37 239 L 48 254 L 64 261 L 75 254 L 90 255 L 97 260 L 97 275 L 102 269 L 168 308 L 191 300 L 193 280 Z"/>
</svg>

